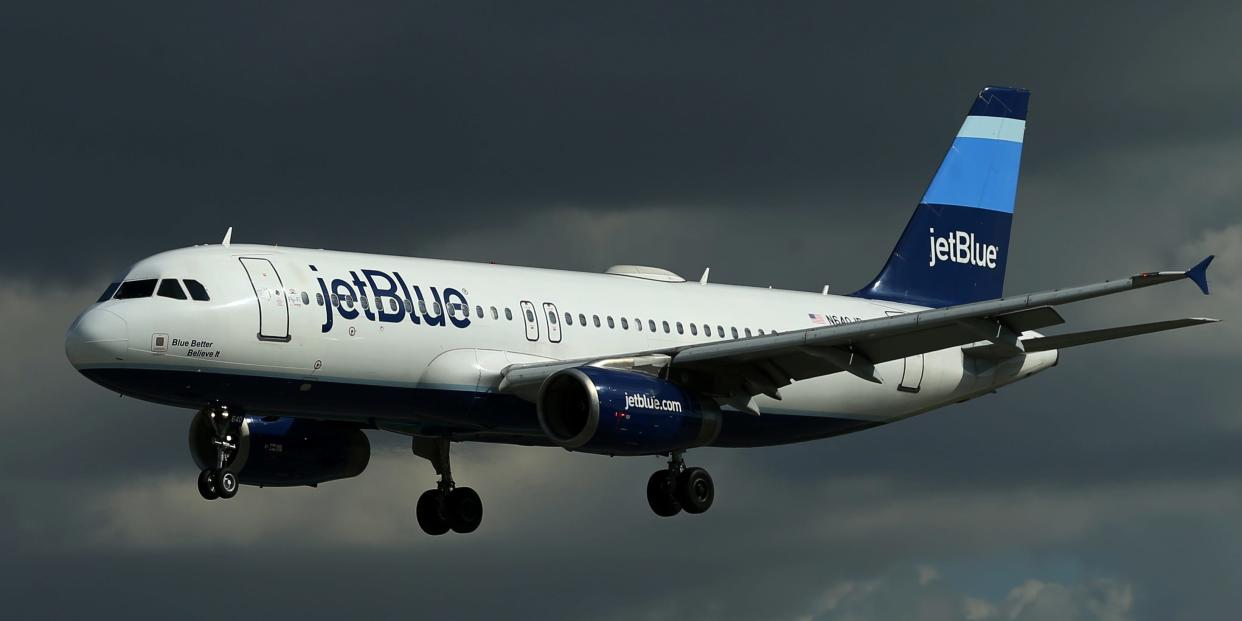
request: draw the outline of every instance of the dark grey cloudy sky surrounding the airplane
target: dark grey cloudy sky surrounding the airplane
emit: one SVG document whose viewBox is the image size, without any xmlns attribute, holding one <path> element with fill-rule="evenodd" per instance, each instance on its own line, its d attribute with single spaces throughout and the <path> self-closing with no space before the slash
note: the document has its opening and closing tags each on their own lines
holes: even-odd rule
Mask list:
<svg viewBox="0 0 1242 621">
<path fill-rule="evenodd" d="M 0 596 L 19 617 L 1165 620 L 1242 584 L 1236 4 L 24 2 L 0 6 Z M 373 435 L 356 479 L 205 503 L 190 412 L 118 399 L 63 330 L 170 247 L 279 242 L 840 291 L 879 268 L 979 87 L 1031 88 L 1007 292 L 1218 255 L 1068 307 L 997 395 L 691 460 L 457 446 L 471 537 Z"/>
</svg>

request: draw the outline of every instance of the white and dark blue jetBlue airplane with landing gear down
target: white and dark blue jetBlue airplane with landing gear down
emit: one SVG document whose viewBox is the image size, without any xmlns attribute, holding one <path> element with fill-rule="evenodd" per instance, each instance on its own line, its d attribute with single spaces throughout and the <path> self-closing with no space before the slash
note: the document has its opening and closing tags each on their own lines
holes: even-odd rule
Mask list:
<svg viewBox="0 0 1242 621">
<path fill-rule="evenodd" d="M 195 411 L 202 498 L 360 474 L 363 430 L 411 437 L 438 481 L 427 534 L 471 533 L 477 492 L 451 442 L 666 456 L 647 502 L 708 510 L 698 447 L 852 433 L 995 392 L 1059 350 L 1215 322 L 1045 335 L 1061 304 L 1190 279 L 1185 271 L 1002 296 L 1030 92 L 986 87 L 881 272 L 846 294 L 258 245 L 138 261 L 70 327 L 66 354 L 120 395 Z"/>
</svg>

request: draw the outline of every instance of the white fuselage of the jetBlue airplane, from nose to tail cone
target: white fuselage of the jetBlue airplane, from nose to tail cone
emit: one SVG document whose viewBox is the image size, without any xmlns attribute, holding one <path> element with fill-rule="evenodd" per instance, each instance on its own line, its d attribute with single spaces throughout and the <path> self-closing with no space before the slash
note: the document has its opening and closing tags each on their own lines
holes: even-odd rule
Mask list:
<svg viewBox="0 0 1242 621">
<path fill-rule="evenodd" d="M 274 273 L 256 272 L 268 265 Z M 615 356 L 922 309 L 662 282 L 641 273 L 241 245 L 155 255 L 123 279 L 147 278 L 196 279 L 210 301 L 150 296 L 87 309 L 71 328 L 67 348 L 73 364 L 101 384 L 189 407 L 210 399 L 240 402 L 252 414 L 358 420 L 410 432 L 433 427 L 520 443 L 540 443 L 529 404 L 479 405 L 498 396 L 507 365 Z M 760 420 L 883 424 L 990 392 L 1054 363 L 1056 351 L 982 361 L 955 347 L 879 364 L 882 384 L 837 373 L 787 385 L 780 401 L 759 397 L 758 406 Z M 497 414 L 505 404 L 513 411 Z M 818 433 L 826 435 L 832 433 Z M 777 431 L 753 442 L 733 437 L 725 446 L 807 437 Z"/>
</svg>

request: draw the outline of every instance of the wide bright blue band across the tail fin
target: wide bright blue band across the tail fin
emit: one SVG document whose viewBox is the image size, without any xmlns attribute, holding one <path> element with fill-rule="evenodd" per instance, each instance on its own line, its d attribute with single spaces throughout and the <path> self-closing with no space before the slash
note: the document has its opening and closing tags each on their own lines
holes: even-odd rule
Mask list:
<svg viewBox="0 0 1242 621">
<path fill-rule="evenodd" d="M 1022 143 L 958 138 L 923 202 L 1013 212 Z"/>
</svg>

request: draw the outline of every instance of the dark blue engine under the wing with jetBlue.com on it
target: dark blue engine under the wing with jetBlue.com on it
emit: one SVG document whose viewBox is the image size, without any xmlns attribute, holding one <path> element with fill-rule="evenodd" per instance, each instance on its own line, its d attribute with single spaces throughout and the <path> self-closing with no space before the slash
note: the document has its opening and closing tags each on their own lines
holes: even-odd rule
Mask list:
<svg viewBox="0 0 1242 621">
<path fill-rule="evenodd" d="M 558 446 L 605 455 L 657 455 L 703 446 L 720 432 L 720 410 L 660 378 L 579 366 L 544 381 L 539 425 Z"/>
</svg>

